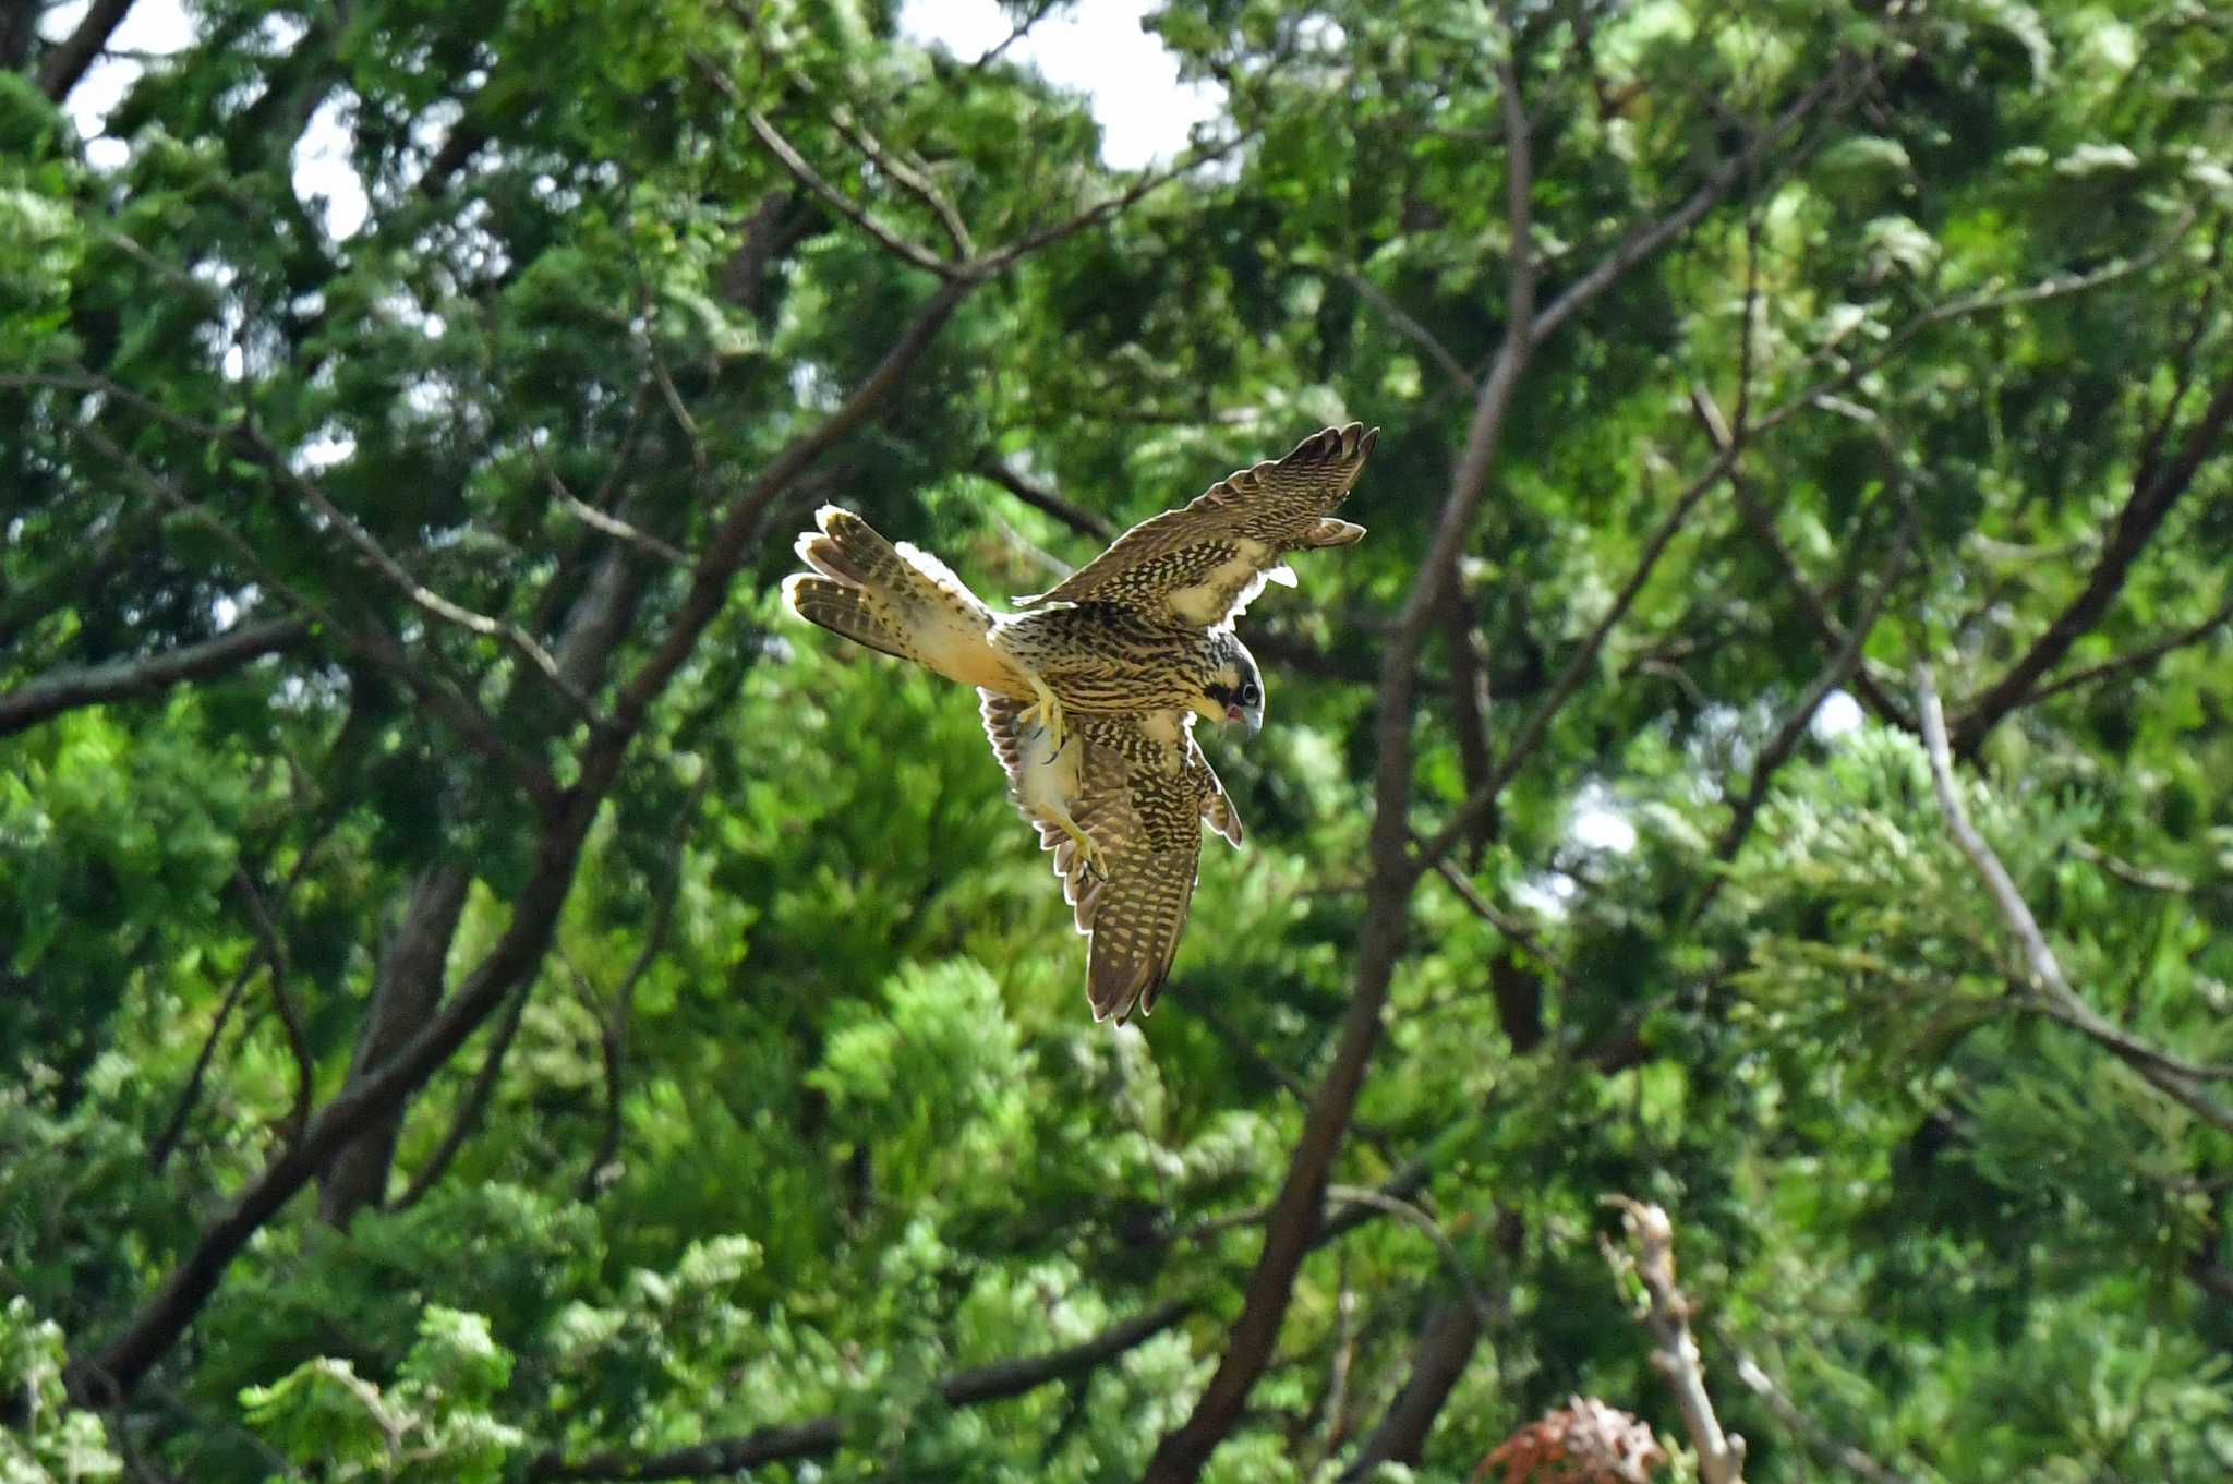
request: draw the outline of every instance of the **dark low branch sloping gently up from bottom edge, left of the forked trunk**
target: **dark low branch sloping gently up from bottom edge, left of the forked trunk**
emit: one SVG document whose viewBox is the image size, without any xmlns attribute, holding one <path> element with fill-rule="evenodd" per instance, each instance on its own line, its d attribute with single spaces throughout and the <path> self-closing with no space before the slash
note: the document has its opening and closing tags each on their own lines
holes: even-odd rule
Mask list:
<svg viewBox="0 0 2233 1484">
<path fill-rule="evenodd" d="M 1005 1401 L 1038 1390 L 1052 1381 L 1074 1381 L 1092 1375 L 1101 1366 L 1137 1350 L 1163 1330 L 1177 1326 L 1195 1310 L 1188 1299 L 1159 1303 L 1146 1314 L 1110 1326 L 1092 1339 L 1065 1350 L 1050 1350 L 1029 1359 L 998 1361 L 976 1370 L 956 1370 L 933 1386 L 947 1406 L 983 1406 Z M 802 1457 L 826 1457 L 844 1442 L 844 1419 L 840 1415 L 795 1422 L 779 1428 L 759 1428 L 744 1437 L 723 1437 L 672 1453 L 598 1453 L 581 1462 L 567 1462 L 558 1453 L 545 1453 L 527 1471 L 538 1484 L 558 1480 L 701 1480 L 728 1477 L 746 1468 L 777 1464 Z"/>
</svg>

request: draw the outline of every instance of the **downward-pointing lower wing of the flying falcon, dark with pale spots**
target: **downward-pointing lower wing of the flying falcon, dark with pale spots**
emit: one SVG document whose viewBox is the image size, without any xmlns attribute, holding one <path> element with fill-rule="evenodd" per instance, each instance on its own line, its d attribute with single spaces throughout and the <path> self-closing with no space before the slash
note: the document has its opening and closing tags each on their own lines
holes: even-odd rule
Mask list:
<svg viewBox="0 0 2233 1484">
<path fill-rule="evenodd" d="M 1154 1011 L 1195 899 L 1201 821 L 1242 841 L 1242 821 L 1195 743 L 1192 716 L 1072 716 L 1076 741 L 1050 759 L 1038 727 L 1016 727 L 1020 701 L 983 694 L 985 734 L 1009 792 L 1054 850 L 1054 875 L 1092 944 L 1085 998 L 1094 1020 Z M 1101 848 L 1108 875 L 1085 866 L 1076 841 L 1043 812 L 1047 792 Z"/>
</svg>

